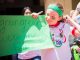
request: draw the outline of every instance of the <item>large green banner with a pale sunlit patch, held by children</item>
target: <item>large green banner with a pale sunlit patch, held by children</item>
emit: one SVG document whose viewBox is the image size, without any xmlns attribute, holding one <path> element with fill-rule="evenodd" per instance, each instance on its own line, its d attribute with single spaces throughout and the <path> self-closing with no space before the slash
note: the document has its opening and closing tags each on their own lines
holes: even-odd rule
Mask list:
<svg viewBox="0 0 80 60">
<path fill-rule="evenodd" d="M 0 16 L 0 56 L 53 47 L 44 15 Z"/>
</svg>

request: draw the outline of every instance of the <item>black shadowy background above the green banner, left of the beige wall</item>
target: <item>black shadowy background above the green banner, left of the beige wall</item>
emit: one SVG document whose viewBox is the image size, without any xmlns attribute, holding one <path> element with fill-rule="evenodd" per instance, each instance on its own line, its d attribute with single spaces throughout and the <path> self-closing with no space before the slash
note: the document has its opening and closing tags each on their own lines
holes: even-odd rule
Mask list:
<svg viewBox="0 0 80 60">
<path fill-rule="evenodd" d="M 43 0 L 0 0 L 0 15 L 22 15 L 25 6 L 32 12 L 44 11 Z"/>
</svg>

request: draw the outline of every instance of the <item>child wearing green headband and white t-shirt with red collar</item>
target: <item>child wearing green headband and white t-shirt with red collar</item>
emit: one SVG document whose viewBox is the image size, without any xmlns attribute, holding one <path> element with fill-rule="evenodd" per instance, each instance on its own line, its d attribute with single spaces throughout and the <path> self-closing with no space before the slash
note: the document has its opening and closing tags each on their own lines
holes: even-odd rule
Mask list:
<svg viewBox="0 0 80 60">
<path fill-rule="evenodd" d="M 79 25 L 69 16 L 67 16 L 67 18 L 70 19 L 70 22 L 78 29 L 73 29 L 73 34 L 76 34 L 76 32 L 80 34 Z M 71 30 L 70 26 L 64 22 L 64 20 L 62 5 L 59 3 L 50 4 L 46 11 L 46 21 L 50 27 L 54 48 L 42 50 L 41 60 L 71 60 L 71 51 L 68 41 Z"/>
</svg>

